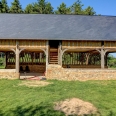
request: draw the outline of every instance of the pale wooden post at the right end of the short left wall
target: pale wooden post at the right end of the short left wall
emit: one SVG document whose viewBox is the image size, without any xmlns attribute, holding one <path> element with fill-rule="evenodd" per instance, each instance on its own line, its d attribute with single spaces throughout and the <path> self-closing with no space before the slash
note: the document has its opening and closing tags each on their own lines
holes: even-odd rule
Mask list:
<svg viewBox="0 0 116 116">
<path fill-rule="evenodd" d="M 18 41 L 16 41 L 16 61 L 15 61 L 15 68 L 16 73 L 19 73 L 19 44 Z"/>
</svg>

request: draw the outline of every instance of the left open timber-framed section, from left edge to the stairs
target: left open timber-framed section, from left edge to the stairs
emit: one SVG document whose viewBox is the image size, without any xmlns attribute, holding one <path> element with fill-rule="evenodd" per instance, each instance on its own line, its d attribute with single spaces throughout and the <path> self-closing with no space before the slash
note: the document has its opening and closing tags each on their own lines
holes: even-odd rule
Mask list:
<svg viewBox="0 0 116 116">
<path fill-rule="evenodd" d="M 15 74 L 12 78 L 42 76 L 46 71 L 46 44 L 44 40 L 1 40 L 1 78 L 8 77 L 7 72 Z"/>
</svg>

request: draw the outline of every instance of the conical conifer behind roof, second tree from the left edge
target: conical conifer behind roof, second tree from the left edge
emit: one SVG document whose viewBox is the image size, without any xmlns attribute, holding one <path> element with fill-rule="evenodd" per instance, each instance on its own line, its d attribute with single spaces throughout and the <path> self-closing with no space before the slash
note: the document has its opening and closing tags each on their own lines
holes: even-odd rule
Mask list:
<svg viewBox="0 0 116 116">
<path fill-rule="evenodd" d="M 14 2 L 11 3 L 10 13 L 23 13 L 19 0 L 14 0 Z"/>
</svg>

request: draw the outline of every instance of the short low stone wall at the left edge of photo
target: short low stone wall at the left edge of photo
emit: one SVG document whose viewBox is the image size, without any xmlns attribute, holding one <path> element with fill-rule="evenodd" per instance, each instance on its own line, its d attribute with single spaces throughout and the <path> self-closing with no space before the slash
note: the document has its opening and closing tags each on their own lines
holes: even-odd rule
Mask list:
<svg viewBox="0 0 116 116">
<path fill-rule="evenodd" d="M 15 69 L 0 69 L 0 79 L 19 79 L 20 73 L 16 73 Z"/>
</svg>

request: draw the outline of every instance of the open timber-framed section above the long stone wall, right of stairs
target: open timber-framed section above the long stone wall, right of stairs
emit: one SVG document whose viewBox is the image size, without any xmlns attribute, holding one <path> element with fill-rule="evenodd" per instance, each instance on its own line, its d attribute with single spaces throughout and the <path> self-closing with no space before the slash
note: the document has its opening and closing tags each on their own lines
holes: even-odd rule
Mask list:
<svg viewBox="0 0 116 116">
<path fill-rule="evenodd" d="M 116 52 L 115 41 L 69 41 L 59 45 L 63 68 L 108 69 L 108 54 Z"/>
</svg>

